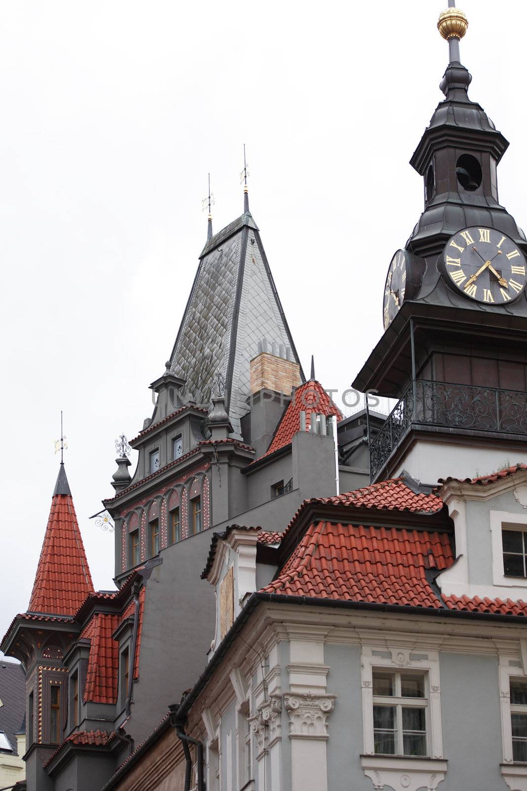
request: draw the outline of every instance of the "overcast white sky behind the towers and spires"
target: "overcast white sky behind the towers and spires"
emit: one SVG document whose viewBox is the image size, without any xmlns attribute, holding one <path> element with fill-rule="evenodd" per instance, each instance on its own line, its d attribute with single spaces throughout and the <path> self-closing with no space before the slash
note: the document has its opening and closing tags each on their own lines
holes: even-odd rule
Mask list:
<svg viewBox="0 0 527 791">
<path fill-rule="evenodd" d="M 408 165 L 436 104 L 446 2 L 0 4 L 0 634 L 29 595 L 66 471 L 96 588 L 115 437 L 152 411 L 205 243 L 250 209 L 297 349 L 348 387 L 382 333 L 393 252 L 423 208 Z M 512 144 L 500 198 L 527 225 L 527 6 L 463 0 L 469 92 Z M 498 30 L 496 28 L 499 28 Z"/>
</svg>

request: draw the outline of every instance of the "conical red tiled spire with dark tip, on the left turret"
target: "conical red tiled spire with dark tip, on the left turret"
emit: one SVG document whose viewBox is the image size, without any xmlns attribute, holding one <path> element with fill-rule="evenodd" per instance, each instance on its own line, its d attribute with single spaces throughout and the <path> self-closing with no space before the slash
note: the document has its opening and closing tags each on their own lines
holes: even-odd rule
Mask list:
<svg viewBox="0 0 527 791">
<path fill-rule="evenodd" d="M 28 612 L 74 615 L 88 593 L 93 592 L 70 485 L 61 462 Z"/>
</svg>

